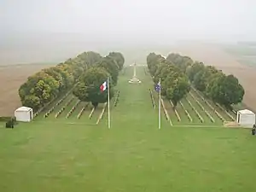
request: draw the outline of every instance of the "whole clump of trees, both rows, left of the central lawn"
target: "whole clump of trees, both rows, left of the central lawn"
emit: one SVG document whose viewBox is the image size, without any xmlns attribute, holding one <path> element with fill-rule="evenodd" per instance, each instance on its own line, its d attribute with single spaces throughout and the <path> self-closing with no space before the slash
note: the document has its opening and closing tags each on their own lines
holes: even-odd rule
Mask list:
<svg viewBox="0 0 256 192">
<path fill-rule="evenodd" d="M 108 76 L 111 84 L 117 84 L 118 73 L 124 62 L 125 59 L 119 52 L 111 52 L 105 57 L 92 51 L 84 52 L 30 76 L 20 86 L 20 101 L 22 105 L 38 110 L 73 89 L 76 84 L 73 94 L 80 100 L 93 102 L 95 105 L 106 102 L 106 94 L 100 95 L 99 87 Z"/>
</svg>

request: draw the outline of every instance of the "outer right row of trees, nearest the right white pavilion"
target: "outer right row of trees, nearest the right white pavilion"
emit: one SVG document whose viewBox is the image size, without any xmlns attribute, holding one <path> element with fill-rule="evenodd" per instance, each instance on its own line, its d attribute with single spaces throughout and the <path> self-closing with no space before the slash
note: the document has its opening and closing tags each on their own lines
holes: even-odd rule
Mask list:
<svg viewBox="0 0 256 192">
<path fill-rule="evenodd" d="M 187 68 L 186 73 L 196 90 L 200 90 L 228 110 L 243 99 L 245 90 L 232 74 L 225 75 L 216 67 L 205 66 L 201 62 L 193 63 Z"/>
</svg>

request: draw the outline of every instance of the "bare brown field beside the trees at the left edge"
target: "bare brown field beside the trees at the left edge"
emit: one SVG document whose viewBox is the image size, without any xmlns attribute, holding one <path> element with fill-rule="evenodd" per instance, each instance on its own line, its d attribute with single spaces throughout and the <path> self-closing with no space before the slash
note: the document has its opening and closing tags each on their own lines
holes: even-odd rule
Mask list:
<svg viewBox="0 0 256 192">
<path fill-rule="evenodd" d="M 49 64 L 24 64 L 0 67 L 0 116 L 14 114 L 15 108 L 21 105 L 18 96 L 20 84 L 24 83 L 31 74 L 49 66 Z"/>
</svg>

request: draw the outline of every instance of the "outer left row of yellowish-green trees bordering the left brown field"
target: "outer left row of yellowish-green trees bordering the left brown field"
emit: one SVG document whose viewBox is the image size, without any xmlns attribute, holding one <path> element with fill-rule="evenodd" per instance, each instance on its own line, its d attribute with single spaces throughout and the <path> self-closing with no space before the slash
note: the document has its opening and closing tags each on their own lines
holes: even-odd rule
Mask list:
<svg viewBox="0 0 256 192">
<path fill-rule="evenodd" d="M 110 66 L 113 67 L 113 65 L 120 70 L 124 65 L 123 55 L 112 52 L 108 56 L 102 57 L 96 52 L 84 52 L 55 67 L 45 68 L 30 76 L 20 86 L 20 101 L 22 105 L 38 110 L 67 90 L 71 90 L 75 84 L 80 84 L 84 80 L 85 74 L 87 76 L 90 74 L 91 68 L 100 66 L 104 68 L 102 70 L 105 70 L 106 77 L 110 74 L 116 84 L 117 74 L 112 68 L 110 69 Z M 90 84 L 90 86 L 92 85 Z"/>
</svg>

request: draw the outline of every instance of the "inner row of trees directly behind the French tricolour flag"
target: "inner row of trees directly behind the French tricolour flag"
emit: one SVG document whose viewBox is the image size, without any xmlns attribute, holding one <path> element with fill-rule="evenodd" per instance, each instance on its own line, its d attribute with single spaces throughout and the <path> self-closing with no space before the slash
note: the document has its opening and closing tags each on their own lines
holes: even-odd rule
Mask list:
<svg viewBox="0 0 256 192">
<path fill-rule="evenodd" d="M 73 90 L 74 96 L 83 102 L 91 102 L 96 108 L 99 103 L 108 101 L 108 91 L 102 92 L 100 86 L 109 79 L 109 96 L 113 97 L 113 86 L 118 82 L 119 72 L 125 63 L 124 56 L 111 52 L 102 60 L 94 63 L 79 79 L 79 84 Z"/>
</svg>

